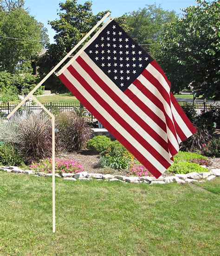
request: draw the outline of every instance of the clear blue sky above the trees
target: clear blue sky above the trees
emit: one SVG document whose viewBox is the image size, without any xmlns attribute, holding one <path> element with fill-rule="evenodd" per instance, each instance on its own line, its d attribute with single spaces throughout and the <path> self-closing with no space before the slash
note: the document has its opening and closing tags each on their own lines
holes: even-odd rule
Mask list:
<svg viewBox="0 0 220 256">
<path fill-rule="evenodd" d="M 82 4 L 85 0 L 78 0 Z M 50 42 L 54 42 L 54 30 L 48 25 L 48 20 L 55 20 L 58 18 L 59 2 L 65 0 L 26 0 L 25 8 L 29 9 L 31 15 L 36 20 L 42 22 L 48 30 Z M 136 11 L 143 8 L 145 5 L 154 4 L 161 5 L 164 10 L 175 10 L 176 13 L 181 13 L 180 8 L 196 5 L 195 0 L 93 0 L 92 11 L 94 14 L 110 10 L 113 18 Z"/>
</svg>

